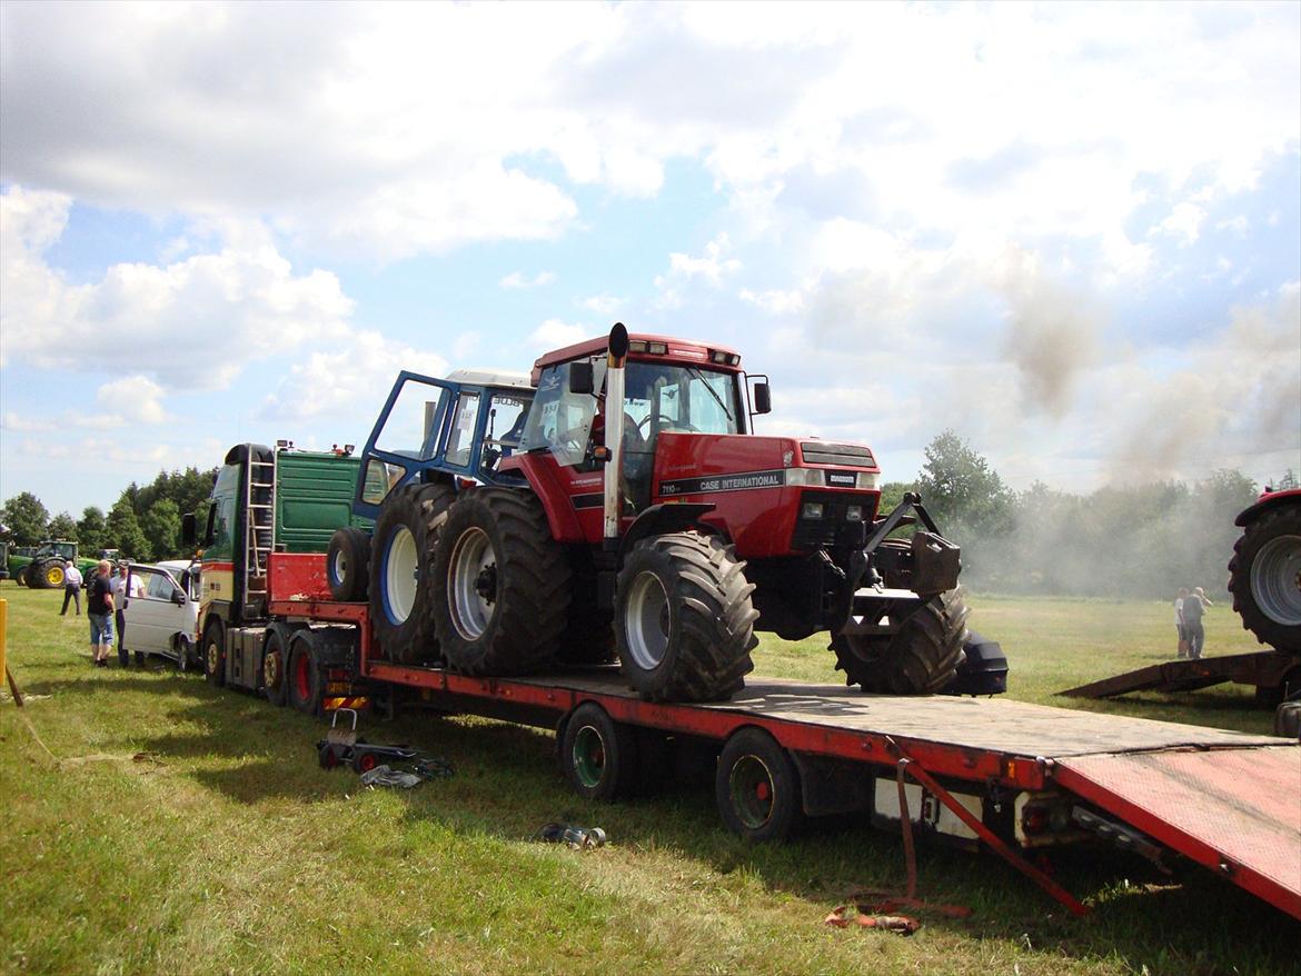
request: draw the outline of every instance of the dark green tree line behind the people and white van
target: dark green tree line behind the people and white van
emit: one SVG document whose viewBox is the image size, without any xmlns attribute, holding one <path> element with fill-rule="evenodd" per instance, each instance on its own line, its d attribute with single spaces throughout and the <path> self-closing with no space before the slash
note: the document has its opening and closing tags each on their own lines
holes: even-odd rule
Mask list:
<svg viewBox="0 0 1301 976">
<path fill-rule="evenodd" d="M 36 545 L 46 539 L 70 539 L 82 556 L 95 556 L 100 549 L 120 549 L 139 562 L 182 558 L 181 515 L 194 511 L 212 491 L 217 468 L 200 471 L 160 471 L 143 488 L 131 481 L 104 514 L 88 505 L 82 517 L 68 511 L 51 517 L 31 492 L 21 492 L 0 508 L 14 545 Z"/>
</svg>

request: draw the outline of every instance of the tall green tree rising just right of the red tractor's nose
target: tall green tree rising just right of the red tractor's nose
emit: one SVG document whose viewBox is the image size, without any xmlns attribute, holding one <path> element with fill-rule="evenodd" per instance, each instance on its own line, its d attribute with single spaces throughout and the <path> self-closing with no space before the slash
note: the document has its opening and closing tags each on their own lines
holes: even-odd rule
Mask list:
<svg viewBox="0 0 1301 976">
<path fill-rule="evenodd" d="M 941 531 L 990 536 L 1011 530 L 1012 492 L 967 441 L 945 431 L 925 453 L 917 488 Z"/>
</svg>

